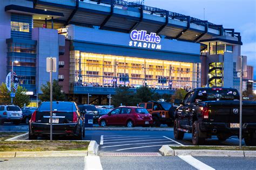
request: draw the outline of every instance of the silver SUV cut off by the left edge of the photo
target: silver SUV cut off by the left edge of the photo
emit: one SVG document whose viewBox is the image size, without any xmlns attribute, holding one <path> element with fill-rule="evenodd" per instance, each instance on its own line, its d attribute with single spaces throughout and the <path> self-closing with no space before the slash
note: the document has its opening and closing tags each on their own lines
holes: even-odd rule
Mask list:
<svg viewBox="0 0 256 170">
<path fill-rule="evenodd" d="M 0 124 L 12 122 L 18 125 L 21 120 L 22 111 L 17 105 L 0 105 Z"/>
</svg>

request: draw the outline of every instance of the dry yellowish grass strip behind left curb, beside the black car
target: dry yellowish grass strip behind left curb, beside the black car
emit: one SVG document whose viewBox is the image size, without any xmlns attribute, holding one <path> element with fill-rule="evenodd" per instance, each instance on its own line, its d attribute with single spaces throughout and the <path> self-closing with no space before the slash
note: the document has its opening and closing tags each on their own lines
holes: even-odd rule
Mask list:
<svg viewBox="0 0 256 170">
<path fill-rule="evenodd" d="M 0 152 L 4 151 L 87 151 L 89 141 L 4 141 L 23 133 L 0 133 Z"/>
</svg>

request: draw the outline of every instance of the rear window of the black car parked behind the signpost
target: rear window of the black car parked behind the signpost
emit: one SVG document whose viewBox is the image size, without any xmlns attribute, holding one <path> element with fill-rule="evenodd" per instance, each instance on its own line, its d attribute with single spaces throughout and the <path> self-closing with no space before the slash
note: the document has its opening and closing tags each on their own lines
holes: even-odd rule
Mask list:
<svg viewBox="0 0 256 170">
<path fill-rule="evenodd" d="M 75 108 L 75 107 L 74 107 Z M 73 103 L 52 103 L 53 111 L 75 111 L 73 110 Z M 38 111 L 50 111 L 50 103 L 42 103 Z"/>
</svg>

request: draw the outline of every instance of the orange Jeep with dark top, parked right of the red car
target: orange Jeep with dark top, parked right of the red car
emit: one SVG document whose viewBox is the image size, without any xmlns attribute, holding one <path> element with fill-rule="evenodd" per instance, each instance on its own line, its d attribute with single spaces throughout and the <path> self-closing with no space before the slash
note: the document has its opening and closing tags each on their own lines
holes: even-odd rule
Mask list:
<svg viewBox="0 0 256 170">
<path fill-rule="evenodd" d="M 171 103 L 149 101 L 139 103 L 139 107 L 143 107 L 150 112 L 153 117 L 153 125 L 159 127 L 161 124 L 173 126 L 173 115 L 169 114 L 169 109 L 172 107 Z"/>
</svg>

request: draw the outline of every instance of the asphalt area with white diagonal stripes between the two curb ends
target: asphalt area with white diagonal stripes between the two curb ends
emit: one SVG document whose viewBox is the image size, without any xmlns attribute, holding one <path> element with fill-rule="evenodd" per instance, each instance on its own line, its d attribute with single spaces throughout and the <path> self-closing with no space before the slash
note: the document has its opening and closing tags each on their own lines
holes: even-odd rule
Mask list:
<svg viewBox="0 0 256 170">
<path fill-rule="evenodd" d="M 158 152 L 163 145 L 182 145 L 165 136 L 101 136 L 99 152 Z M 107 155 L 107 154 L 105 154 Z"/>
</svg>

